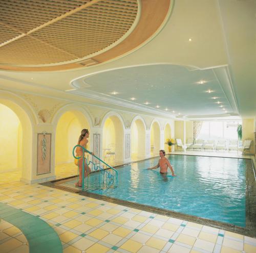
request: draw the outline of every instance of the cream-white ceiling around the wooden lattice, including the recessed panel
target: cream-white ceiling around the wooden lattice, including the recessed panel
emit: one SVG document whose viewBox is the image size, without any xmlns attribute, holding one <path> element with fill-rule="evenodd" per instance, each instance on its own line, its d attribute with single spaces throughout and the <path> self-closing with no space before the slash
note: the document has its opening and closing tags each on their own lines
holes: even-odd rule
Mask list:
<svg viewBox="0 0 256 253">
<path fill-rule="evenodd" d="M 100 93 L 111 98 L 109 104 L 116 100 L 123 106 L 127 103 L 120 99 L 136 97 L 129 104 L 137 109 L 148 100 L 147 107 L 152 106 L 156 113 L 167 107 L 168 112 L 202 117 L 223 114 L 210 98 L 216 96 L 228 114 L 255 117 L 255 13 L 254 0 L 176 0 L 165 27 L 135 52 L 76 70 L 0 70 L 0 88 L 62 98 L 72 95 L 72 99 L 84 97 L 84 101 L 91 93 L 91 103 L 95 93 Z M 63 93 L 74 88 L 72 84 L 83 87 L 83 80 L 91 87 Z M 200 80 L 209 82 L 195 84 Z M 207 94 L 208 88 L 215 92 Z M 117 99 L 109 96 L 112 91 L 119 92 L 114 96 Z M 161 108 L 156 109 L 156 104 Z"/>
</svg>

